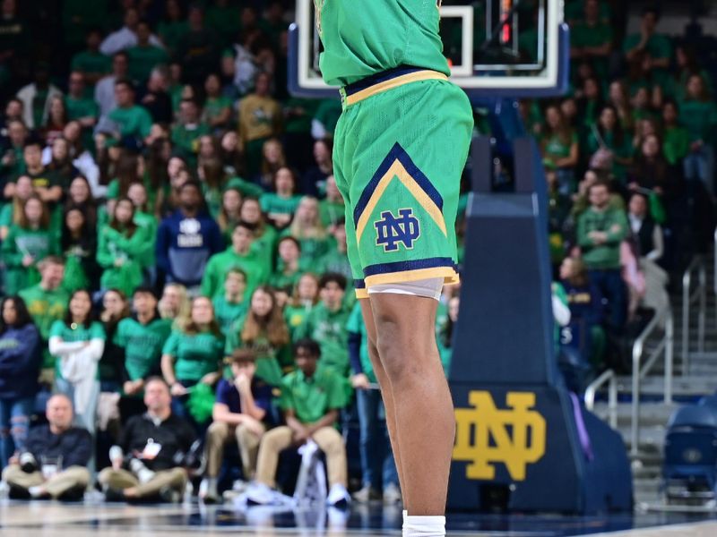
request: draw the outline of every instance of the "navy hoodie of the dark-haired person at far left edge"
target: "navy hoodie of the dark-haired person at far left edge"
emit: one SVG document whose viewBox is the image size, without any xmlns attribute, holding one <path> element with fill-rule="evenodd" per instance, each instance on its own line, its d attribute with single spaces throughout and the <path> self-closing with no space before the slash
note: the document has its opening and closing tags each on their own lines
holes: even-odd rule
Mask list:
<svg viewBox="0 0 717 537">
<path fill-rule="evenodd" d="M 41 362 L 35 325 L 30 322 L 22 328 L 8 327 L 0 336 L 0 398 L 35 396 Z"/>
</svg>

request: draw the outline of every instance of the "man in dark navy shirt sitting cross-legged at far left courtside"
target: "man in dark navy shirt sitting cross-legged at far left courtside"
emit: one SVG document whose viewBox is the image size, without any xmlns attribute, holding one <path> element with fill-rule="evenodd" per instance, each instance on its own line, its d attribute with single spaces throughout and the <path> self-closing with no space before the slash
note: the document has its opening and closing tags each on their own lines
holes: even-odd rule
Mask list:
<svg viewBox="0 0 717 537">
<path fill-rule="evenodd" d="M 73 427 L 73 404 L 65 395 L 49 398 L 46 415 L 48 425 L 31 429 L 24 451 L 4 469 L 10 498 L 82 499 L 91 480 L 90 433 Z"/>
</svg>

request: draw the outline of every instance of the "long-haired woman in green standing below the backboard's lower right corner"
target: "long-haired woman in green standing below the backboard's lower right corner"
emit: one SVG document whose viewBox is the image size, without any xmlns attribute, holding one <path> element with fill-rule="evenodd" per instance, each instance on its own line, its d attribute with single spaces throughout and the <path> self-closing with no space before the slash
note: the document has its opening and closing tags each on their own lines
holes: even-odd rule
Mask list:
<svg viewBox="0 0 717 537">
<path fill-rule="evenodd" d="M 559 190 L 563 194 L 575 191 L 575 166 L 580 152 L 578 137 L 567 124 L 560 107 L 551 106 L 545 110 L 545 128 L 540 138 L 543 162 L 556 170 Z"/>
</svg>

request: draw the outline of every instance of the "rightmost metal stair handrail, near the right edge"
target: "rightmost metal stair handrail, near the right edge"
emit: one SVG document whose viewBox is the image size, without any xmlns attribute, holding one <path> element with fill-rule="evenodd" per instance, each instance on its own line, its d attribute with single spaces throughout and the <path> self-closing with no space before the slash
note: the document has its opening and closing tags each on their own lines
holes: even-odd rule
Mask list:
<svg viewBox="0 0 717 537">
<path fill-rule="evenodd" d="M 715 235 L 717 238 L 717 235 Z M 716 268 L 717 269 L 717 268 Z M 692 289 L 693 276 L 697 273 L 697 286 Z M 707 268 L 701 256 L 696 256 L 682 277 L 682 374 L 689 373 L 690 334 L 692 306 L 698 304 L 697 311 L 697 353 L 704 353 L 704 333 L 707 319 Z"/>
</svg>

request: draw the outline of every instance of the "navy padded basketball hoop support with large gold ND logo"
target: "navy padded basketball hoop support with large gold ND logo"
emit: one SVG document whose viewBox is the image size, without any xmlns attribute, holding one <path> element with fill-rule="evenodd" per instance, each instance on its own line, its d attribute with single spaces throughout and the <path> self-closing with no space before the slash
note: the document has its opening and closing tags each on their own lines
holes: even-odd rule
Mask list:
<svg viewBox="0 0 717 537">
<path fill-rule="evenodd" d="M 511 103 L 504 103 L 500 109 L 515 111 Z M 479 458 L 481 447 L 475 442 L 480 409 L 475 417 L 470 411 L 461 412 L 471 408 L 471 392 L 478 391 L 488 392 L 498 411 L 508 411 L 500 414 L 508 416 L 507 422 L 494 414 L 492 422 L 483 422 L 483 426 L 491 423 L 503 427 L 503 436 L 513 439 L 506 395 L 533 394 L 531 416 L 540 413 L 546 423 L 545 453 L 526 466 L 524 479 L 509 473 L 505 461 L 491 464 L 495 469 L 491 479 L 469 479 L 471 460 L 457 460 L 456 456 L 448 508 L 478 510 L 500 504 L 499 508 L 511 512 L 575 514 L 630 510 L 632 477 L 622 439 L 583 412 L 594 453 L 588 460 L 570 394 L 557 368 L 548 197 L 540 153 L 531 138 L 512 140 L 513 162 L 505 167 L 513 169 L 515 192 L 491 192 L 491 147 L 505 147 L 510 140 L 499 132 L 493 134 L 498 139 L 494 145 L 487 138 L 479 138 L 471 151 L 473 192 L 462 267 L 461 317 L 449 379 L 457 415 L 464 420 L 462 428 L 459 422 L 463 434 L 457 439 L 461 443 L 458 451 L 460 457 Z M 471 430 L 468 435 L 467 424 Z M 496 447 L 493 435 L 488 436 L 489 446 L 482 447 L 484 451 L 491 441 Z M 471 440 L 466 442 L 466 437 Z"/>
</svg>

